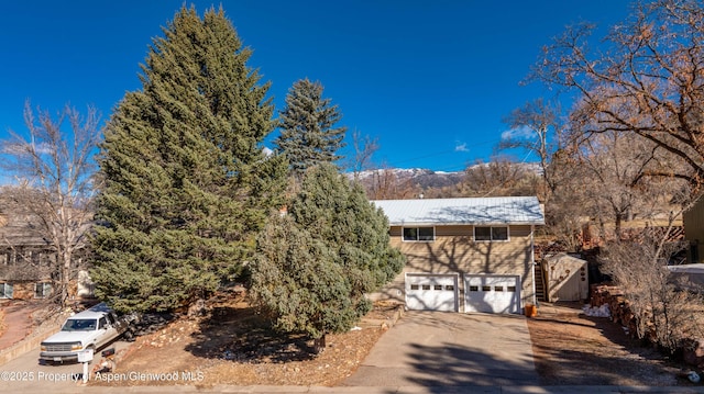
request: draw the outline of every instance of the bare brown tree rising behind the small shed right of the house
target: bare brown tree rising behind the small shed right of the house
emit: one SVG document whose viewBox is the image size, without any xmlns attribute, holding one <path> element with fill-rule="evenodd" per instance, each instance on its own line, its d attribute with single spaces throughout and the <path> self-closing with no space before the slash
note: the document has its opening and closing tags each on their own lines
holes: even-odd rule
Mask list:
<svg viewBox="0 0 704 394">
<path fill-rule="evenodd" d="M 618 103 L 613 100 L 609 104 Z M 587 223 L 595 224 L 597 227 L 592 228 L 598 228 L 597 237 L 604 239 L 620 237 L 626 222 L 636 219 L 642 225 L 667 217 L 672 196 L 686 184 L 664 175 L 684 173 L 682 161 L 634 133 L 585 132 L 597 126 L 590 123 L 594 120 L 580 117 L 581 111 L 581 105 L 573 111 L 563 148 L 550 162 L 553 198 L 548 223 L 570 233 L 579 232 L 575 225 L 583 228 Z M 660 177 L 652 176 L 656 173 Z M 579 212 L 574 212 L 575 206 Z M 563 235 L 568 239 L 569 235 Z"/>
</svg>

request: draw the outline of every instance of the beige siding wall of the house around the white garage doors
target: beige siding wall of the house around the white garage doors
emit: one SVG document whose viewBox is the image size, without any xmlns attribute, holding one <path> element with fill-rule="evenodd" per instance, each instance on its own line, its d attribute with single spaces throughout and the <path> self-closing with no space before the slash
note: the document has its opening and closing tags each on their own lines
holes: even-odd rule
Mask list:
<svg viewBox="0 0 704 394">
<path fill-rule="evenodd" d="M 404 273 L 495 273 L 518 274 L 521 297 L 532 302 L 531 226 L 510 226 L 507 241 L 474 241 L 473 226 L 437 226 L 435 241 L 404 241 L 400 226 L 392 226 L 391 243 L 407 258 L 393 283 L 373 299 L 404 300 Z M 462 300 L 463 294 L 460 294 Z"/>
</svg>

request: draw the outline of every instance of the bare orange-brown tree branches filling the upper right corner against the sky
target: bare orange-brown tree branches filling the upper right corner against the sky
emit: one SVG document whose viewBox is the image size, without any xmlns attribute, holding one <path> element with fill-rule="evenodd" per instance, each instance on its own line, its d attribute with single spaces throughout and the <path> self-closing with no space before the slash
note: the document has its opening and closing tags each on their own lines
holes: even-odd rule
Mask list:
<svg viewBox="0 0 704 394">
<path fill-rule="evenodd" d="M 686 170 L 651 175 L 698 184 L 704 176 L 704 9 L 697 0 L 637 2 L 629 20 L 590 46 L 593 25 L 572 26 L 544 48 L 532 77 L 576 90 L 572 114 L 586 134 L 638 135 Z"/>
</svg>

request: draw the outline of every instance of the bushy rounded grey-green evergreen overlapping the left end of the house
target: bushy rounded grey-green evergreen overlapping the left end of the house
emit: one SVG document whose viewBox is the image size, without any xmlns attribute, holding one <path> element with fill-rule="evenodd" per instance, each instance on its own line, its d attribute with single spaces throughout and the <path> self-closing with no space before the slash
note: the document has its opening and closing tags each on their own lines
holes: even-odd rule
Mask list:
<svg viewBox="0 0 704 394">
<path fill-rule="evenodd" d="M 404 266 L 388 241 L 388 221 L 363 189 L 330 164 L 314 167 L 257 239 L 252 295 L 279 329 L 317 339 L 349 330 L 371 308 L 364 294 Z"/>
</svg>

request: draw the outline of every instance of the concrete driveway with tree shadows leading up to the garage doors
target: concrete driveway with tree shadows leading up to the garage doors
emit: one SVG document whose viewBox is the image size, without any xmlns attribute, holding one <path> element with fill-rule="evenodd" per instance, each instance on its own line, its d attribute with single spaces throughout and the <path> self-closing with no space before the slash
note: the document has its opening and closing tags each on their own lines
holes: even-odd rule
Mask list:
<svg viewBox="0 0 704 394">
<path fill-rule="evenodd" d="M 526 318 L 410 311 L 385 333 L 349 386 L 536 385 Z"/>
</svg>

